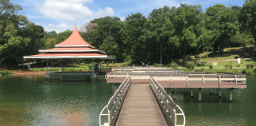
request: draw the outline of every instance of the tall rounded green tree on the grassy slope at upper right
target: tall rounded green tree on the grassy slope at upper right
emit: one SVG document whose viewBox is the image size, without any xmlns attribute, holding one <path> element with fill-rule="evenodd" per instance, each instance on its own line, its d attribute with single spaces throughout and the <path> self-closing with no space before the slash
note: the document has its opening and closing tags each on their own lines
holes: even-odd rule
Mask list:
<svg viewBox="0 0 256 126">
<path fill-rule="evenodd" d="M 215 45 L 223 55 L 224 47 L 231 42 L 232 36 L 239 31 L 237 13 L 231 8 L 216 4 L 206 9 L 205 17 L 206 28 L 212 31 Z"/>
</svg>

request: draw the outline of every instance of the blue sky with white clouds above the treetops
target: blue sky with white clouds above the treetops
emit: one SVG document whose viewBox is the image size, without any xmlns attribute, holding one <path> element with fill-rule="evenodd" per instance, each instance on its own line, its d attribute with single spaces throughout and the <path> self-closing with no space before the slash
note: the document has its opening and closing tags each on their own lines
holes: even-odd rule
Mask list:
<svg viewBox="0 0 256 126">
<path fill-rule="evenodd" d="M 148 17 L 152 9 L 179 6 L 179 3 L 200 4 L 205 12 L 209 6 L 243 6 L 243 0 L 10 0 L 23 8 L 28 20 L 43 26 L 45 31 L 73 31 L 95 18 L 114 16 L 125 20 L 131 13 Z"/>
</svg>

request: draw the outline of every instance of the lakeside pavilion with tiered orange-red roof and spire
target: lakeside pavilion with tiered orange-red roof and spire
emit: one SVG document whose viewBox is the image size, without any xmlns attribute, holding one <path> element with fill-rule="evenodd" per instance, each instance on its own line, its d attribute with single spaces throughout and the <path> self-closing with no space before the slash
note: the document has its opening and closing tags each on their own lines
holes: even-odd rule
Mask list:
<svg viewBox="0 0 256 126">
<path fill-rule="evenodd" d="M 75 25 L 73 33 L 68 39 L 66 39 L 62 43 L 56 44 L 55 48 L 39 50 L 39 52 L 42 52 L 44 54 L 24 56 L 24 58 L 47 59 L 47 73 L 49 73 L 48 59 L 92 59 L 93 74 L 93 59 L 115 59 L 114 57 L 107 56 L 104 51 L 97 50 L 94 46 L 87 43 L 77 31 L 77 25 Z"/>
</svg>

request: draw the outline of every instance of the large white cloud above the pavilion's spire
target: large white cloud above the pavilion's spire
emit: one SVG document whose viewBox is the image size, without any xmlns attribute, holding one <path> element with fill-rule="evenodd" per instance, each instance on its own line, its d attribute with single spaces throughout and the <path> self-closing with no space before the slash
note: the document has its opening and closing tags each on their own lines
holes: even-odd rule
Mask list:
<svg viewBox="0 0 256 126">
<path fill-rule="evenodd" d="M 83 22 L 88 22 L 99 17 L 113 16 L 115 14 L 111 7 L 92 11 L 83 5 L 84 2 L 92 2 L 92 0 L 46 0 L 39 9 L 44 17 Z"/>
</svg>

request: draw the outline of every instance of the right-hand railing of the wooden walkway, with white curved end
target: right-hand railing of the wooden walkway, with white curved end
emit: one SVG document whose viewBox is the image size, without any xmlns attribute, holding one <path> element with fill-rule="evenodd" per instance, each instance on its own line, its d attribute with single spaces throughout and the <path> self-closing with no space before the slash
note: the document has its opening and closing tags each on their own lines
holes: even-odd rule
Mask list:
<svg viewBox="0 0 256 126">
<path fill-rule="evenodd" d="M 183 126 L 186 123 L 185 115 L 183 110 L 175 104 L 172 98 L 164 91 L 164 88 L 160 86 L 159 83 L 156 82 L 150 76 L 149 78 L 151 90 L 153 95 L 156 97 L 156 101 L 160 105 L 160 109 L 164 113 L 164 117 L 170 126 L 177 126 L 177 115 L 183 116 Z M 182 113 L 176 113 L 176 109 L 179 108 Z"/>
</svg>

